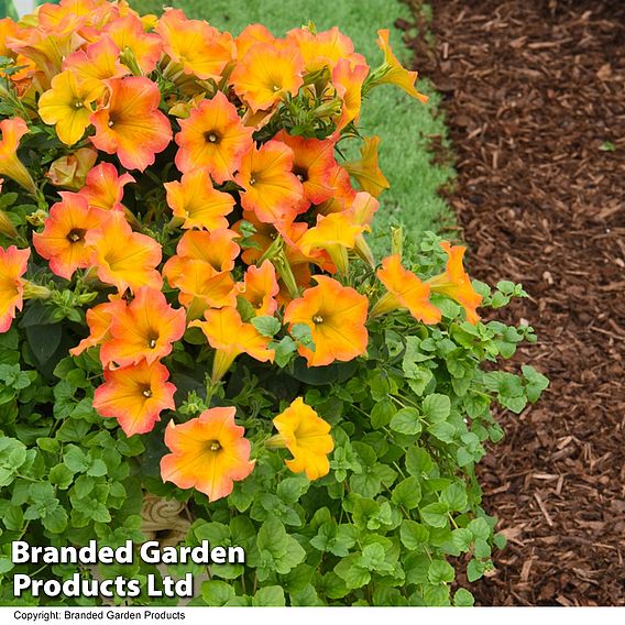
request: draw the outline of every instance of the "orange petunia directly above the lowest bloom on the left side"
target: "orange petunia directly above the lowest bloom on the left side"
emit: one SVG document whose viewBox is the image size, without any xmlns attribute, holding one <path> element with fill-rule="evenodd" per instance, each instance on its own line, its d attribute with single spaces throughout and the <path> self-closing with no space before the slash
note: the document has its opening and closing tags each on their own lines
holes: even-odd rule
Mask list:
<svg viewBox="0 0 625 625">
<path fill-rule="evenodd" d="M 185 333 L 184 309 L 172 308 L 165 296 L 154 288 L 136 290 L 135 298 L 111 319 L 111 339 L 102 344 L 100 360 L 105 366 L 147 364 L 172 353 L 172 344 Z"/>
</svg>

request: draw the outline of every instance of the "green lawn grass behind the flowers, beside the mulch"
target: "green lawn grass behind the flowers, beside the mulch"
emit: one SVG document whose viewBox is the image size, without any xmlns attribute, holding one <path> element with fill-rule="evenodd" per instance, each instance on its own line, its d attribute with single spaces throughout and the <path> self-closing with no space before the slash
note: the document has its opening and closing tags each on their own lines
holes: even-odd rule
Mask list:
<svg viewBox="0 0 625 625">
<path fill-rule="evenodd" d="M 133 0 L 143 13 L 158 13 L 163 2 Z M 375 67 L 382 53 L 375 45 L 379 29 L 391 30 L 393 50 L 403 62 L 409 59 L 401 32 L 393 22 L 409 18 L 408 9 L 393 0 L 173 0 L 188 18 L 208 20 L 213 26 L 238 34 L 248 24 L 261 22 L 275 35 L 312 21 L 317 30 L 339 26 Z M 375 89 L 364 103 L 360 128 L 363 134 L 382 138 L 380 163 L 391 188 L 380 197 L 372 246 L 388 248 L 390 226 L 401 222 L 406 232 L 418 235 L 424 230 L 438 230 L 453 220 L 437 188 L 453 175 L 449 167 L 430 163 L 428 135 L 446 135 L 442 118 L 437 117 L 438 95 L 419 80 L 419 89 L 430 96 L 427 105 L 409 98 L 401 89 L 384 85 Z"/>
</svg>

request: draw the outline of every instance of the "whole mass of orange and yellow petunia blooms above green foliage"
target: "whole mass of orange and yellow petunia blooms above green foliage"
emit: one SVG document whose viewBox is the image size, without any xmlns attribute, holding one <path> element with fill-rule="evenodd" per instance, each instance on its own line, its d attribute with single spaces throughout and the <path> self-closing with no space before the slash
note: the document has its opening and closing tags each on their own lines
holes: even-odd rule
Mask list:
<svg viewBox="0 0 625 625">
<path fill-rule="evenodd" d="M 185 344 L 212 360 L 215 386 L 242 354 L 275 368 L 351 361 L 372 320 L 405 309 L 436 325 L 441 296 L 475 324 L 463 246 L 443 243 L 446 270 L 421 278 L 398 253 L 377 267 L 366 243 L 388 183 L 379 138 L 357 130 L 363 97 L 394 84 L 427 99 L 387 31 L 377 43 L 371 68 L 337 28 L 232 36 L 177 9 L 141 17 L 124 0 L 1 20 L 0 174 L 36 210 L 24 223 L 0 213 L 15 243 L 0 248 L 0 331 L 24 299 L 69 290 L 89 305 L 70 353 L 97 350 L 94 407 L 132 436 L 175 410 L 169 363 Z M 341 156 L 348 141 L 361 141 L 359 158 Z M 37 149 L 46 157 L 34 163 Z M 163 480 L 210 501 L 244 480 L 255 461 L 234 413 L 171 420 Z M 273 424 L 265 446 L 286 448 L 293 472 L 328 473 L 330 426 L 301 397 Z"/>
</svg>

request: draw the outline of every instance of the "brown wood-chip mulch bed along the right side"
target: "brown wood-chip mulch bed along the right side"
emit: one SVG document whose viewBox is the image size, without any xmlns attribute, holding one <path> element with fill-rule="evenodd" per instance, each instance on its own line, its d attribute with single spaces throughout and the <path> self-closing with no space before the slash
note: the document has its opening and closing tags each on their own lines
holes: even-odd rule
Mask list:
<svg viewBox="0 0 625 625">
<path fill-rule="evenodd" d="M 409 45 L 443 94 L 470 270 L 524 284 L 497 316 L 539 341 L 511 364 L 551 380 L 480 470 L 508 546 L 474 594 L 625 605 L 625 3 L 432 7 L 434 47 Z"/>
</svg>

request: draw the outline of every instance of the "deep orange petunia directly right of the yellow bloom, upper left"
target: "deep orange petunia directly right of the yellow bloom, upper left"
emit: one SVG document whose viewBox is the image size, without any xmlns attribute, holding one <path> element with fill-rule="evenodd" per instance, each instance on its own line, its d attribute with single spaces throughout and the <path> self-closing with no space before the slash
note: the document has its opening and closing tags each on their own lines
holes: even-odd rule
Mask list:
<svg viewBox="0 0 625 625">
<path fill-rule="evenodd" d="M 111 95 L 108 107 L 90 118 L 96 128 L 91 142 L 107 154 L 117 154 L 128 169 L 143 172 L 172 141 L 169 121 L 158 110 L 158 86 L 143 76 L 106 83 Z"/>
</svg>

